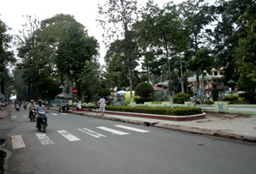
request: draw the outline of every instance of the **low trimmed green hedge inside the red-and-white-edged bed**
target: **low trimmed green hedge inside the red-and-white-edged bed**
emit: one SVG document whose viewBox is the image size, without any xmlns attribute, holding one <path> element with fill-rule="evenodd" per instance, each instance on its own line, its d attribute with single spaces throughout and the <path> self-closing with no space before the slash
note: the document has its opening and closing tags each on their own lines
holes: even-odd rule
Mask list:
<svg viewBox="0 0 256 174">
<path fill-rule="evenodd" d="M 171 115 L 171 116 L 188 116 L 202 113 L 202 108 L 187 108 L 187 107 L 147 107 L 147 106 L 106 106 L 106 111 L 118 112 L 137 112 L 137 113 L 150 113 L 158 115 Z"/>
</svg>

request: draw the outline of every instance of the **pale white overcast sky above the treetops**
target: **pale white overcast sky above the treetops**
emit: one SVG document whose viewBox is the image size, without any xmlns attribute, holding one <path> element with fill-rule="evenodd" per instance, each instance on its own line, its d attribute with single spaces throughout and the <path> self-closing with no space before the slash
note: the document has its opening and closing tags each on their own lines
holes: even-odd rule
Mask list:
<svg viewBox="0 0 256 174">
<path fill-rule="evenodd" d="M 183 0 L 173 0 L 176 4 Z M 106 49 L 102 43 L 102 29 L 95 21 L 98 15 L 98 3 L 103 4 L 105 0 L 2 0 L 0 4 L 0 19 L 12 28 L 16 33 L 26 22 L 23 15 L 36 16 L 38 19 L 48 19 L 56 14 L 63 13 L 73 15 L 77 22 L 85 25 L 89 36 L 94 36 L 100 44 L 102 64 Z M 138 0 L 139 4 L 145 5 L 146 0 Z M 154 0 L 159 6 L 170 0 Z"/>
</svg>

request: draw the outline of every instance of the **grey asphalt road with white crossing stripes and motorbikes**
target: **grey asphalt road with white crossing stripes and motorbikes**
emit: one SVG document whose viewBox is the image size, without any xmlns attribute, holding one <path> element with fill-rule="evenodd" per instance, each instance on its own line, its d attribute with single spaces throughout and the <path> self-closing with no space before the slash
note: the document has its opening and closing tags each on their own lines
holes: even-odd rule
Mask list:
<svg viewBox="0 0 256 174">
<path fill-rule="evenodd" d="M 50 111 L 46 134 L 28 111 L 0 120 L 9 172 L 20 174 L 254 173 L 256 145 Z"/>
</svg>

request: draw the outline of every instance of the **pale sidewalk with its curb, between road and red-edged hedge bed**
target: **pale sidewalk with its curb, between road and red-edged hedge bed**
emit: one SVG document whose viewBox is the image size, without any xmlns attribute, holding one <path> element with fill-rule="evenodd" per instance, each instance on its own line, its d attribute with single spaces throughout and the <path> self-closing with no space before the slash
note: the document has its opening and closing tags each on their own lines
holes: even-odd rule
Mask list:
<svg viewBox="0 0 256 174">
<path fill-rule="evenodd" d="M 55 109 L 55 108 L 51 108 Z M 58 108 L 57 108 L 58 109 Z M 112 121 L 122 121 L 137 125 L 176 129 L 196 134 L 206 134 L 222 138 L 232 138 L 245 142 L 256 142 L 256 115 L 206 112 L 206 118 L 194 121 L 164 121 L 159 119 L 128 117 L 95 112 L 73 112 Z"/>
</svg>

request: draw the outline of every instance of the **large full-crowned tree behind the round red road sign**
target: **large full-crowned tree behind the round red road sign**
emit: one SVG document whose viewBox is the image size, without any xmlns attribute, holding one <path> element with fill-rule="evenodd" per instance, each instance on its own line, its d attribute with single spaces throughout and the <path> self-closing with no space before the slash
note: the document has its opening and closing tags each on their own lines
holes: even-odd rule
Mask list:
<svg viewBox="0 0 256 174">
<path fill-rule="evenodd" d="M 55 15 L 43 20 L 41 36 L 46 48 L 51 48 L 54 63 L 62 76 L 66 76 L 78 88 L 79 100 L 82 98 L 80 74 L 86 61 L 95 61 L 98 55 L 98 41 L 89 36 L 85 26 L 76 22 L 72 15 Z"/>
</svg>

